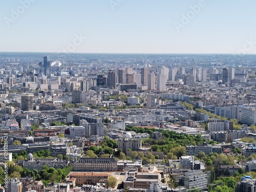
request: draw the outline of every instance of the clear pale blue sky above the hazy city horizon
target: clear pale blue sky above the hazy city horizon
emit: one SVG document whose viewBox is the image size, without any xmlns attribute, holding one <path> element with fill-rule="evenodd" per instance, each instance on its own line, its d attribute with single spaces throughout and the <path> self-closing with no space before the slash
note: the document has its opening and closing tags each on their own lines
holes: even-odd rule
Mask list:
<svg viewBox="0 0 256 192">
<path fill-rule="evenodd" d="M 256 54 L 255 0 L 1 0 L 0 52 Z"/>
</svg>

